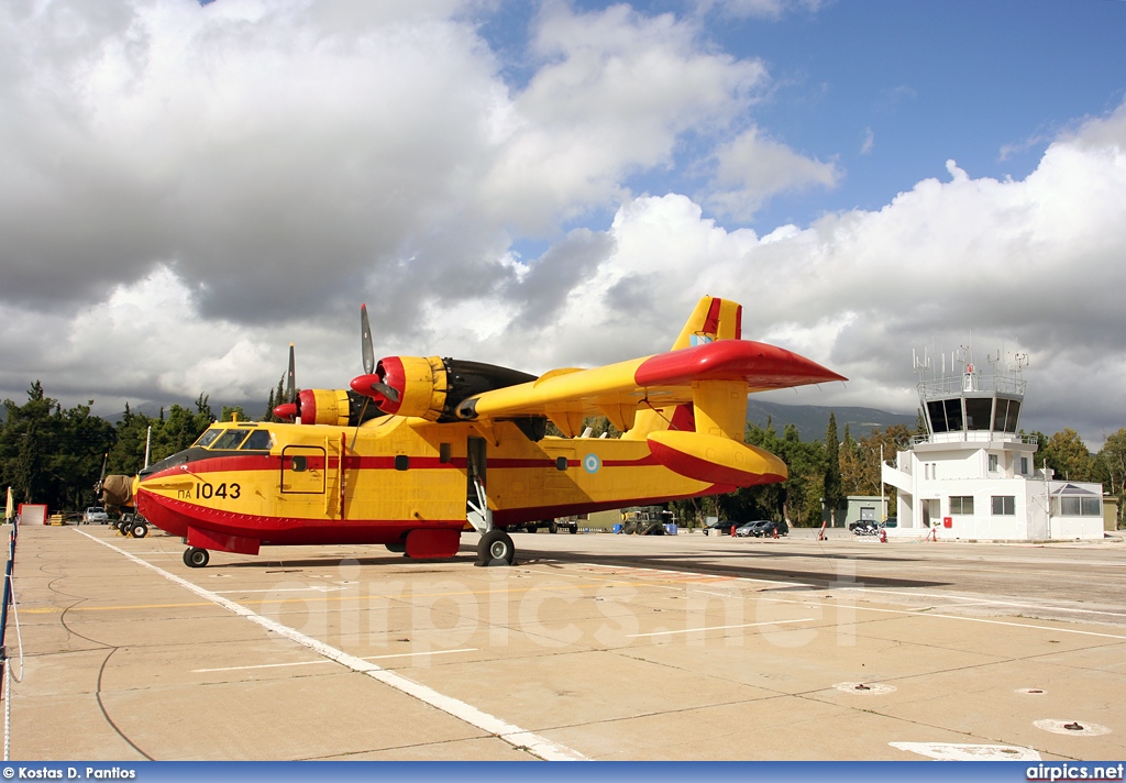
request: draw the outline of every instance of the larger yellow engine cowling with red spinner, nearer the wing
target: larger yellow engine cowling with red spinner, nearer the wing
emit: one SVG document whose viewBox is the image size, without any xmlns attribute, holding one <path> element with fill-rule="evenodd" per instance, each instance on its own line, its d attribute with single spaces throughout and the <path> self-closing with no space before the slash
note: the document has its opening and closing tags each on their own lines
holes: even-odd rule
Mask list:
<svg viewBox="0 0 1126 783">
<path fill-rule="evenodd" d="M 387 356 L 373 374 L 352 380 L 351 388 L 384 413 L 437 421 L 446 409 L 449 383 L 446 363 L 438 356 Z"/>
</svg>

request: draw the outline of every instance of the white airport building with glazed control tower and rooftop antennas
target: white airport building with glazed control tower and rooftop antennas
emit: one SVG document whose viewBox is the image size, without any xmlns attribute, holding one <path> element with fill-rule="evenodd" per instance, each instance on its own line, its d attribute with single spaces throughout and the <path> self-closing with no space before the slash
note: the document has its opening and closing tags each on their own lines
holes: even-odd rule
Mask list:
<svg viewBox="0 0 1126 783">
<path fill-rule="evenodd" d="M 946 359 L 950 359 L 949 371 Z M 1101 539 L 1102 486 L 1056 480 L 1020 433 L 1024 357 L 990 358 L 982 373 L 968 348 L 915 359 L 928 434 L 917 436 L 883 481 L 896 489 L 895 536 L 1047 541 Z"/>
</svg>

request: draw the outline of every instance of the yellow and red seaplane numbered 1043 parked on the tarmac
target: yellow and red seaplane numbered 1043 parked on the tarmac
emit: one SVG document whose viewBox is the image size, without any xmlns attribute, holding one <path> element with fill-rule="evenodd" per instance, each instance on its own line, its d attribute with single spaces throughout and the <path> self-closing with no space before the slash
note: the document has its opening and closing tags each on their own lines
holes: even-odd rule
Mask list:
<svg viewBox="0 0 1126 783">
<path fill-rule="evenodd" d="M 376 363 L 366 308 L 360 324 L 350 390 L 296 393 L 291 346 L 276 412 L 293 424 L 216 422 L 136 477 L 137 513 L 184 539 L 187 566 L 295 544 L 452 558 L 466 523 L 477 564 L 511 564 L 509 527 L 784 481 L 781 460 L 743 443 L 748 393 L 844 380 L 743 340 L 741 305 L 712 296 L 668 353 L 538 377 L 437 356 Z M 592 416 L 623 435 L 582 437 Z"/>
</svg>

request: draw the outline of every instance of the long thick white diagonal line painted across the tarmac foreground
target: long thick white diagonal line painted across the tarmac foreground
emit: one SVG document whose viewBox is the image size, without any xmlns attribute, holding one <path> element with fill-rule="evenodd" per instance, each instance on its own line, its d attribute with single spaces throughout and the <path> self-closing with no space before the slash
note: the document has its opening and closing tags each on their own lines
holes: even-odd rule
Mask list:
<svg viewBox="0 0 1126 783">
<path fill-rule="evenodd" d="M 268 631 L 272 631 L 274 633 L 277 633 L 280 637 L 285 637 L 286 639 L 294 641 L 301 644 L 302 647 L 306 647 L 310 650 L 313 650 L 318 655 L 321 655 L 330 660 L 334 660 L 342 666 L 347 666 L 352 671 L 366 674 L 367 676 L 379 680 L 384 685 L 393 687 L 396 691 L 405 693 L 409 696 L 413 696 L 414 699 L 419 700 L 420 702 L 423 702 L 425 704 L 429 704 L 430 706 L 441 710 L 443 712 L 453 715 L 458 720 L 465 721 L 470 726 L 475 726 L 482 731 L 486 731 L 490 735 L 493 735 L 494 737 L 504 740 L 515 748 L 525 749 L 531 755 L 543 758 L 544 760 L 553 760 L 553 762 L 586 760 L 586 756 L 583 756 L 577 750 L 572 750 L 566 746 L 552 742 L 545 737 L 540 737 L 539 735 L 526 731 L 518 726 L 509 723 L 508 721 L 501 720 L 500 718 L 497 718 L 494 715 L 490 715 L 488 712 L 479 710 L 472 704 L 466 704 L 465 702 L 454 699 L 453 696 L 447 696 L 443 693 L 438 693 L 431 687 L 422 685 L 421 683 L 415 683 L 413 679 L 408 679 L 406 677 L 403 677 L 400 674 L 396 674 L 394 671 L 388 671 L 387 669 L 381 668 L 375 664 L 370 664 L 364 660 L 363 658 L 349 655 L 343 650 L 338 650 L 334 647 L 325 644 L 319 639 L 306 637 L 304 633 L 301 633 L 300 631 L 296 631 L 289 628 L 288 625 L 283 625 L 282 623 L 275 622 L 269 617 L 263 617 L 260 614 L 251 612 L 241 604 L 236 604 L 233 600 L 229 600 L 223 596 L 212 593 L 211 590 L 204 589 L 203 587 L 199 587 L 198 585 L 195 585 L 188 581 L 187 579 L 181 579 L 178 576 L 169 573 L 164 569 L 148 563 L 141 558 L 131 554 L 129 552 L 126 552 L 123 549 L 114 546 L 108 542 L 101 541 L 100 539 L 92 536 L 89 533 L 83 533 L 82 531 L 78 530 L 75 531 L 75 533 L 80 533 L 86 537 L 88 537 L 90 541 L 99 543 L 102 546 L 106 546 L 107 549 L 111 549 L 113 551 L 128 558 L 138 566 L 155 571 L 157 573 L 164 577 L 169 581 L 172 581 L 179 585 L 180 587 L 190 590 L 191 593 L 195 593 L 197 596 L 202 598 L 206 598 L 207 600 L 211 600 L 212 603 L 222 606 L 229 612 L 233 612 L 240 617 L 245 617 L 250 622 L 257 623 L 258 625 L 261 625 Z"/>
</svg>

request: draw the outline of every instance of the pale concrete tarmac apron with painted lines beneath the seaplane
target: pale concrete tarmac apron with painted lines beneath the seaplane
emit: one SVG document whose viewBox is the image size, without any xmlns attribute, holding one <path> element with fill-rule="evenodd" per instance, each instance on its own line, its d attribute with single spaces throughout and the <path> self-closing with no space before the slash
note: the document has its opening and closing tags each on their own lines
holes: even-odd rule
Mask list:
<svg viewBox="0 0 1126 783">
<path fill-rule="evenodd" d="M 25 527 L 11 758 L 1126 757 L 1120 541 L 813 533 L 189 569 L 157 530 Z"/>
</svg>

